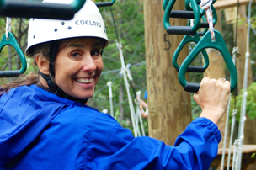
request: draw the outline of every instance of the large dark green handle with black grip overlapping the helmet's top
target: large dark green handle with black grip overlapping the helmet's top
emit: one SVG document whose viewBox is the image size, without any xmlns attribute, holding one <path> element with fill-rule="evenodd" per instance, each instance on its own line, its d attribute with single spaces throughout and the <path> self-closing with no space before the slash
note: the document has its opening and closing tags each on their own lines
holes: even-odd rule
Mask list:
<svg viewBox="0 0 256 170">
<path fill-rule="evenodd" d="M 72 19 L 86 0 L 74 0 L 71 4 L 39 3 L 0 0 L 0 15 L 8 17 Z"/>
</svg>

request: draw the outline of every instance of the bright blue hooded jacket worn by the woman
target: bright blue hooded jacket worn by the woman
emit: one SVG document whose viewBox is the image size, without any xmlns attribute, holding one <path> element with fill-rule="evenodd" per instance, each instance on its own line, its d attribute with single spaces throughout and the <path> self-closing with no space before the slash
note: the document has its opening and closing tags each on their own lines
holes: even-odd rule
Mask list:
<svg viewBox="0 0 256 170">
<path fill-rule="evenodd" d="M 134 137 L 109 114 L 35 85 L 0 98 L 0 169 L 196 169 L 216 157 L 221 134 L 198 118 L 174 146 Z"/>
</svg>

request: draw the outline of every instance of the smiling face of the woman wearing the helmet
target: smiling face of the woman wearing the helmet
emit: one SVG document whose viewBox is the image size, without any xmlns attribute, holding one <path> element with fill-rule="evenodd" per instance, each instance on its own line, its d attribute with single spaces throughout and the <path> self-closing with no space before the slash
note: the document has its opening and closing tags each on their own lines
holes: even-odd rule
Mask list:
<svg viewBox="0 0 256 170">
<path fill-rule="evenodd" d="M 102 40 L 96 38 L 74 39 L 61 45 L 55 62 L 56 84 L 73 98 L 92 98 L 104 67 L 102 47 Z"/>
</svg>

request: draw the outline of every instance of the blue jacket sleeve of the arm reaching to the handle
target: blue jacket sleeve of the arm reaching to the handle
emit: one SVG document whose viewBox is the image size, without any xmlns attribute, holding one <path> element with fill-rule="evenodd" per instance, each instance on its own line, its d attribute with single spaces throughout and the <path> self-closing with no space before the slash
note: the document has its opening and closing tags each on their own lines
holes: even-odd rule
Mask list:
<svg viewBox="0 0 256 170">
<path fill-rule="evenodd" d="M 175 145 L 168 146 L 147 136 L 134 138 L 130 130 L 101 117 L 93 126 L 85 164 L 88 169 L 205 170 L 219 141 L 217 126 L 205 118 L 191 122 Z"/>
</svg>

